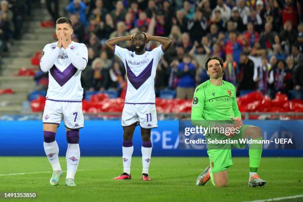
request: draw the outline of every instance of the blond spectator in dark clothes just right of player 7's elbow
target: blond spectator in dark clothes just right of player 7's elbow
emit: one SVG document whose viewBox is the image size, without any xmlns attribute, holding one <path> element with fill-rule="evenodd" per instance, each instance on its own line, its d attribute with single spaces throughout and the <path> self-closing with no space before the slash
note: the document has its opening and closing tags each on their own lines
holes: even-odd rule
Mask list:
<svg viewBox="0 0 303 202">
<path fill-rule="evenodd" d="M 109 71 L 102 66 L 102 60 L 96 58 L 92 64 L 93 69 L 93 88 L 96 91 L 107 90 L 109 86 Z"/>
</svg>

